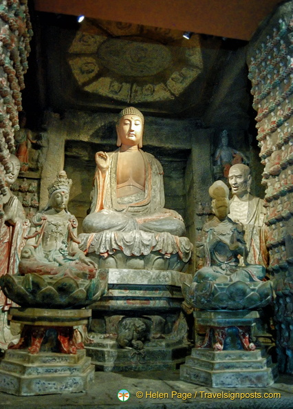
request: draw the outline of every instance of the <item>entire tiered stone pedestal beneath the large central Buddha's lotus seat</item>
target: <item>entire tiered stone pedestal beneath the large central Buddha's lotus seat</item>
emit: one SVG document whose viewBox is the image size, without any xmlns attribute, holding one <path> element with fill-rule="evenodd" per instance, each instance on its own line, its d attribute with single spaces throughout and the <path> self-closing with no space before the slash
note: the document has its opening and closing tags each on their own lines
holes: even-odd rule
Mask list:
<svg viewBox="0 0 293 409">
<path fill-rule="evenodd" d="M 175 369 L 190 353 L 179 271 L 101 269 L 108 291 L 93 304 L 87 356 L 96 369 Z"/>
</svg>

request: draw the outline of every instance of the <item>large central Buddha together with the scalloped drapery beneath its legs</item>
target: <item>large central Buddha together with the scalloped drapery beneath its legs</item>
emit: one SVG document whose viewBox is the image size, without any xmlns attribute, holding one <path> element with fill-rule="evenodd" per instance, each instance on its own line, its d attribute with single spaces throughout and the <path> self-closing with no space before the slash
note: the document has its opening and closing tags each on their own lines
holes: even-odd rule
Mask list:
<svg viewBox="0 0 293 409">
<path fill-rule="evenodd" d="M 166 258 L 177 253 L 187 262 L 191 244 L 182 237 L 182 217 L 164 208 L 162 165 L 141 149 L 144 116 L 127 107 L 116 130 L 118 149 L 96 153 L 91 211 L 83 221 L 80 248 L 102 258 L 116 251 L 127 256 L 159 251 Z"/>
</svg>

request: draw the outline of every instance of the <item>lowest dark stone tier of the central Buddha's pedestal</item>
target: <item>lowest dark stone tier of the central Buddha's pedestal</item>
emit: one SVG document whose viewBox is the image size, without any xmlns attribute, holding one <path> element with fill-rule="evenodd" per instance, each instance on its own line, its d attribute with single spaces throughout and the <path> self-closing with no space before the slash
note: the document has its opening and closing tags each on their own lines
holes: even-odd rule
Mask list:
<svg viewBox="0 0 293 409">
<path fill-rule="evenodd" d="M 161 339 L 144 344 L 143 350 L 119 348 L 115 339 L 100 339 L 94 346 L 85 348 L 96 370 L 105 372 L 175 370 L 191 353 L 188 344 Z"/>
</svg>

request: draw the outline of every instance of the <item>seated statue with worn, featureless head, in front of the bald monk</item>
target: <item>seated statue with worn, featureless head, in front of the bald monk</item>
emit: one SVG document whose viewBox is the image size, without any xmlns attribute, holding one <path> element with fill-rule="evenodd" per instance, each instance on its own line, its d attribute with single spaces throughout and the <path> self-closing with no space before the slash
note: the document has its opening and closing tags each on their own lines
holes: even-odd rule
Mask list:
<svg viewBox="0 0 293 409">
<path fill-rule="evenodd" d="M 246 243 L 241 225 L 228 218 L 229 189 L 217 180 L 209 189 L 215 217 L 204 224 L 197 254 L 206 265 L 195 273 L 194 282 L 260 282 L 265 276 L 263 266 L 246 262 Z M 239 266 L 241 255 L 244 265 Z"/>
</svg>

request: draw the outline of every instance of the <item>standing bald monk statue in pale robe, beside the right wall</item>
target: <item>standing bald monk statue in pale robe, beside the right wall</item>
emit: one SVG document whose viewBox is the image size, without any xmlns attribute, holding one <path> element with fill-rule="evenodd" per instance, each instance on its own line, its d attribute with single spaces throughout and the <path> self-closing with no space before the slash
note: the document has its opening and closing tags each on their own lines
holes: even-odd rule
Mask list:
<svg viewBox="0 0 293 409">
<path fill-rule="evenodd" d="M 244 240 L 248 248 L 247 261 L 267 267 L 267 231 L 264 224 L 266 211 L 263 200 L 250 194 L 250 168 L 243 164 L 233 165 L 230 167 L 228 180 L 233 193 L 229 218 L 243 225 Z"/>
</svg>

